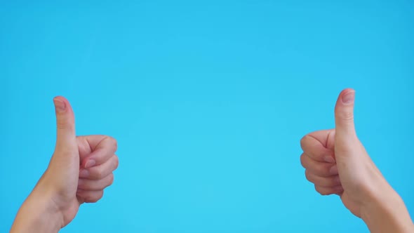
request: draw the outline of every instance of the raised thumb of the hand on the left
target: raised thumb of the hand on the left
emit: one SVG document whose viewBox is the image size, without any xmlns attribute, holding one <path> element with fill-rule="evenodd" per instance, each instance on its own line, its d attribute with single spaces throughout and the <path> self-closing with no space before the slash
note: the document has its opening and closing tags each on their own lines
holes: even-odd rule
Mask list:
<svg viewBox="0 0 414 233">
<path fill-rule="evenodd" d="M 76 145 L 74 113 L 72 107 L 62 96 L 53 99 L 56 113 L 56 149 L 69 149 Z M 68 148 L 69 147 L 69 148 Z"/>
</svg>

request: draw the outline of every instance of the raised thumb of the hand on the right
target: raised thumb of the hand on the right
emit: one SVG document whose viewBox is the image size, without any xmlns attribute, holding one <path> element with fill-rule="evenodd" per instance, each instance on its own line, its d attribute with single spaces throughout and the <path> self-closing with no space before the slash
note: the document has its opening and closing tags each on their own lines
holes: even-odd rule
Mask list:
<svg viewBox="0 0 414 233">
<path fill-rule="evenodd" d="M 354 126 L 355 91 L 342 91 L 335 105 L 335 141 L 346 142 L 356 138 Z"/>
</svg>

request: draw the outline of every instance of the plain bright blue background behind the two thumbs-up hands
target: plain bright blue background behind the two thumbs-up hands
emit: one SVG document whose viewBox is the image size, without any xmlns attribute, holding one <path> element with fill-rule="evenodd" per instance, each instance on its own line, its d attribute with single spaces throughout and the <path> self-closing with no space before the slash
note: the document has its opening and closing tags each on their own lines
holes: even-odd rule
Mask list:
<svg viewBox="0 0 414 233">
<path fill-rule="evenodd" d="M 368 232 L 299 161 L 347 87 L 413 215 L 413 22 L 413 1 L 1 2 L 0 232 L 53 153 L 55 95 L 120 158 L 61 232 Z"/>
</svg>

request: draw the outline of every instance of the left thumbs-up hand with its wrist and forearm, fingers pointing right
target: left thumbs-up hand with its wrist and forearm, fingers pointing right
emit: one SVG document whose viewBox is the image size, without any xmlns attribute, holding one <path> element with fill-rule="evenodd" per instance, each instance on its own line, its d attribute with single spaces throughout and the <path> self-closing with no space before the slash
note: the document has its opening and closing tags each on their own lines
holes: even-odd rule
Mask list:
<svg viewBox="0 0 414 233">
<path fill-rule="evenodd" d="M 11 232 L 58 232 L 79 206 L 102 198 L 118 166 L 116 140 L 105 135 L 76 137 L 69 102 L 55 98 L 57 140 L 50 164 L 16 215 Z"/>
</svg>

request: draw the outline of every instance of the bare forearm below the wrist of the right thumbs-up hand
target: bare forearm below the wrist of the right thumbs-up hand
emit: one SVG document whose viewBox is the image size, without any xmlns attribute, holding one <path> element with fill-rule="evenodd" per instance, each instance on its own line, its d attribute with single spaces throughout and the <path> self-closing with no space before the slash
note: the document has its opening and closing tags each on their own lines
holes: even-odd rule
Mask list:
<svg viewBox="0 0 414 233">
<path fill-rule="evenodd" d="M 370 232 L 414 232 L 406 205 L 392 187 L 379 189 L 374 196 L 361 208 L 361 218 Z"/>
</svg>

